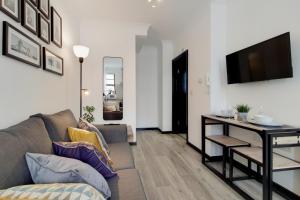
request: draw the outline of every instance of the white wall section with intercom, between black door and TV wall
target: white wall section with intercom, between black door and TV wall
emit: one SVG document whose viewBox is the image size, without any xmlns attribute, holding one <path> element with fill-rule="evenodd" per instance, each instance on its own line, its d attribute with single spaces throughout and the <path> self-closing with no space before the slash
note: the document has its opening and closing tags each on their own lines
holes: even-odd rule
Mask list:
<svg viewBox="0 0 300 200">
<path fill-rule="evenodd" d="M 175 55 L 189 50 L 189 142 L 201 148 L 201 115 L 210 112 L 209 88 L 205 84 L 210 71 L 210 1 L 199 6 L 197 16 L 182 27 L 174 39 Z"/>
</svg>

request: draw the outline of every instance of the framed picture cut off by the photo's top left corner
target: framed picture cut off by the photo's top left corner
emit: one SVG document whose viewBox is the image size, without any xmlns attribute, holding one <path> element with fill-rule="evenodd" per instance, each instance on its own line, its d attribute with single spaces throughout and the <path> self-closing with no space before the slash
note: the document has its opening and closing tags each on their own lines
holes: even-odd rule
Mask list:
<svg viewBox="0 0 300 200">
<path fill-rule="evenodd" d="M 21 0 L 0 0 L 0 10 L 20 22 L 21 19 Z"/>
</svg>

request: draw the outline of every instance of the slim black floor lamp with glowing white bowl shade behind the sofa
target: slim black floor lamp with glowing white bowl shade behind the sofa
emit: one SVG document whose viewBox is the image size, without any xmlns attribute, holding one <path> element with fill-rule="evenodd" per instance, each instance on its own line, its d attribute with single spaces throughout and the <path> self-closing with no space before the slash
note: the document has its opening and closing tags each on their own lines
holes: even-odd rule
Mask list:
<svg viewBox="0 0 300 200">
<path fill-rule="evenodd" d="M 88 57 L 90 49 L 85 46 L 76 45 L 73 47 L 74 54 L 79 58 L 80 63 L 80 117 L 82 117 L 82 95 L 86 92 L 86 89 L 82 89 L 82 63 L 85 58 Z"/>
</svg>

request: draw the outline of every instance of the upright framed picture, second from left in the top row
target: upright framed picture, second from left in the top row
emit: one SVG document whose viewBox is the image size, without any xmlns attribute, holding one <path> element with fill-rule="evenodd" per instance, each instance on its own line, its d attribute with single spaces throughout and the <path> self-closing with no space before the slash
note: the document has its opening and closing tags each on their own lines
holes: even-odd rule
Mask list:
<svg viewBox="0 0 300 200">
<path fill-rule="evenodd" d="M 22 3 L 22 25 L 36 35 L 38 30 L 37 21 L 38 12 L 36 8 L 29 3 L 29 0 L 24 0 Z"/>
</svg>

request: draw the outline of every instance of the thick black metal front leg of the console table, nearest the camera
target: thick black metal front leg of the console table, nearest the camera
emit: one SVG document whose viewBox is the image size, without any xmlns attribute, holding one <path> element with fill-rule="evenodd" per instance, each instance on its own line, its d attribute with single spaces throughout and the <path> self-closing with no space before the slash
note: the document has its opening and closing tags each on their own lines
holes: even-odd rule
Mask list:
<svg viewBox="0 0 300 200">
<path fill-rule="evenodd" d="M 273 146 L 272 136 L 265 134 L 263 139 L 263 200 L 272 200 Z"/>
</svg>

